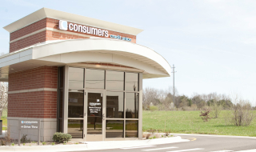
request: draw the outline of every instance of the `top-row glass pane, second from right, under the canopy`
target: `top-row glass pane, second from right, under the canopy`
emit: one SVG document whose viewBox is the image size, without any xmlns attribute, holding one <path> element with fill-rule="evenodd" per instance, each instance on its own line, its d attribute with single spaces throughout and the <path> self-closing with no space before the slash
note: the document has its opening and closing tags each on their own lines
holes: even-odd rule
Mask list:
<svg viewBox="0 0 256 152">
<path fill-rule="evenodd" d="M 124 72 L 106 72 L 106 90 L 124 90 Z"/>
</svg>

